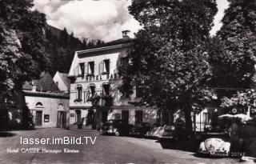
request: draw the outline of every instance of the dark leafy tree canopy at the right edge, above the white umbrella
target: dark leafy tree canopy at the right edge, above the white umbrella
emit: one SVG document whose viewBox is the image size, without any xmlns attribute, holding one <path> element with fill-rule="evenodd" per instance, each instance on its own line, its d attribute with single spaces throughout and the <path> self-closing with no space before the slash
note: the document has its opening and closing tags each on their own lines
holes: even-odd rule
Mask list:
<svg viewBox="0 0 256 164">
<path fill-rule="evenodd" d="M 229 72 L 222 77 L 222 85 L 248 89 L 253 83 L 256 63 L 256 2 L 231 1 L 222 23 L 218 32 L 226 55 L 222 66 Z"/>
</svg>

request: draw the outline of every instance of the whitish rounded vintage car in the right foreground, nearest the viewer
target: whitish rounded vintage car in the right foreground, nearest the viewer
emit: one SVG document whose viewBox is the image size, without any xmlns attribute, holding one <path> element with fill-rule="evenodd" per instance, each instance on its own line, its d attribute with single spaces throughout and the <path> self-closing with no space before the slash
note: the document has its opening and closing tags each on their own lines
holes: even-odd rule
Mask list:
<svg viewBox="0 0 256 164">
<path fill-rule="evenodd" d="M 230 153 L 229 135 L 226 133 L 207 133 L 200 143 L 198 154 L 209 154 L 212 156 L 228 156 Z"/>
</svg>

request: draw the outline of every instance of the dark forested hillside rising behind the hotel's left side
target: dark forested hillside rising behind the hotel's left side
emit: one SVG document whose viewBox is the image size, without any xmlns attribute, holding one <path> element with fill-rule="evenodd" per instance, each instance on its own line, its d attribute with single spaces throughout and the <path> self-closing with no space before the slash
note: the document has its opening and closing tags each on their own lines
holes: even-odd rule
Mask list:
<svg viewBox="0 0 256 164">
<path fill-rule="evenodd" d="M 68 73 L 74 58 L 74 51 L 84 50 L 88 46 L 102 44 L 101 40 L 82 41 L 74 37 L 74 33 L 68 34 L 66 28 L 59 30 L 54 26 L 46 26 L 46 51 L 48 66 L 46 71 L 53 76 L 56 71 Z"/>
</svg>

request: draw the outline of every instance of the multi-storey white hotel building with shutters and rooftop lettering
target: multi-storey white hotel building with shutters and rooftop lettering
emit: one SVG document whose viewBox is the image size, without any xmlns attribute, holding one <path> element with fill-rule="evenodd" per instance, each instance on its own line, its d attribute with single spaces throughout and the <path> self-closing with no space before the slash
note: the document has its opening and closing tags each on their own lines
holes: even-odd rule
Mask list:
<svg viewBox="0 0 256 164">
<path fill-rule="evenodd" d="M 132 40 L 128 33 L 123 31 L 122 39 L 75 52 L 69 72 L 70 126 L 76 122 L 83 122 L 83 127 L 96 126 L 111 118 L 122 118 L 130 124 L 156 122 L 157 110 L 131 105 L 138 102 L 138 91 L 124 97 L 118 90 L 122 79 L 117 68 L 126 62 Z M 92 107 L 92 98 L 98 98 L 96 107 Z"/>
</svg>

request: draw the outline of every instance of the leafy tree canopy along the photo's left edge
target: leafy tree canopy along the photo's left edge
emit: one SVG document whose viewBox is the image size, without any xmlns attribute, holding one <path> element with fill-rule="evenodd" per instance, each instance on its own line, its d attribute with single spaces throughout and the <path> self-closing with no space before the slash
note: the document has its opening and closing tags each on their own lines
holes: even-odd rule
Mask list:
<svg viewBox="0 0 256 164">
<path fill-rule="evenodd" d="M 0 1 L 0 58 L 6 67 L 2 70 L 2 76 L 6 78 L 1 79 L 6 90 L 1 90 L 1 94 L 8 89 L 20 90 L 22 82 L 38 78 L 46 67 L 43 30 L 46 18 L 37 10 L 31 10 L 32 6 L 29 0 Z"/>
</svg>

